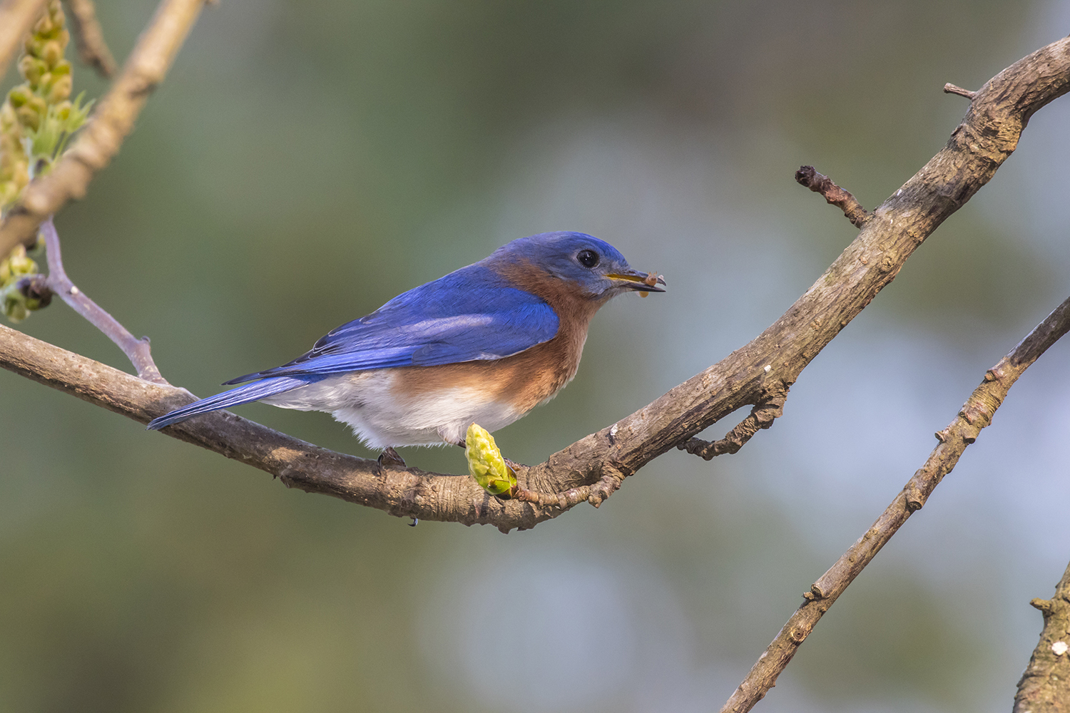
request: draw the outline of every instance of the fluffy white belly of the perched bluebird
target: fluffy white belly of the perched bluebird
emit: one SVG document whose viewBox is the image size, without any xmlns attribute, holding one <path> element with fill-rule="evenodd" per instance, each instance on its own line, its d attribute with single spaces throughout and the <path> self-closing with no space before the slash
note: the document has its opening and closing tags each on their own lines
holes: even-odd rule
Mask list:
<svg viewBox="0 0 1070 713">
<path fill-rule="evenodd" d="M 352 427 L 369 448 L 376 449 L 458 444 L 473 422 L 496 431 L 525 413 L 477 387 L 399 393 L 394 389 L 396 377 L 393 369 L 338 374 L 263 402 L 281 408 L 326 412 Z"/>
</svg>

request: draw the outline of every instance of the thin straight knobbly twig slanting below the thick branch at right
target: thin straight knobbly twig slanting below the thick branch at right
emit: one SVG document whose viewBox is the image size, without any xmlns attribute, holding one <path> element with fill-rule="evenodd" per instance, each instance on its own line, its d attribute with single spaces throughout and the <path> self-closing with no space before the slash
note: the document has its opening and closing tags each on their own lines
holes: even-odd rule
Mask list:
<svg viewBox="0 0 1070 713">
<path fill-rule="evenodd" d="M 921 509 L 933 489 L 959 462 L 966 446 L 974 443 L 981 429 L 992 422 L 992 416 L 1018 377 L 1068 330 L 1070 298 L 1055 308 L 999 363 L 984 373 L 981 385 L 974 389 L 956 419 L 936 433 L 939 445 L 933 449 L 926 464 L 907 481 L 873 527 L 804 594 L 806 602 L 796 609 L 759 657 L 743 683 L 721 708 L 721 713 L 746 713 L 765 697 L 821 617 L 911 514 Z"/>
</svg>

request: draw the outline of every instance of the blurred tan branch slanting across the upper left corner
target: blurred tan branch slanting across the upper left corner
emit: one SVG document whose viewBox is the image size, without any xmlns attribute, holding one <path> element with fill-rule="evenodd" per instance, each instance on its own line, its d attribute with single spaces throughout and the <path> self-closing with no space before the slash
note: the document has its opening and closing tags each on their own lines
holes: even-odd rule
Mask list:
<svg viewBox="0 0 1070 713">
<path fill-rule="evenodd" d="M 34 179 L 0 222 L 0 255 L 33 243 L 41 222 L 86 195 L 93 175 L 119 151 L 149 94 L 164 81 L 205 0 L 163 0 L 122 74 L 96 105 L 74 145 L 47 174 Z"/>
</svg>

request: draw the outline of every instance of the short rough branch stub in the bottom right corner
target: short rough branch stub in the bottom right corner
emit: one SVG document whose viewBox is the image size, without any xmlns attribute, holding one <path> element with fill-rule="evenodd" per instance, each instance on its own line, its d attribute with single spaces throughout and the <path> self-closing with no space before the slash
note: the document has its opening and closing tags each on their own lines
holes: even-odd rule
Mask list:
<svg viewBox="0 0 1070 713">
<path fill-rule="evenodd" d="M 1061 525 L 1061 524 L 1060 524 Z M 1070 711 L 1070 567 L 1050 600 L 1029 602 L 1044 615 L 1044 631 L 1018 683 L 1014 713 Z"/>
</svg>

